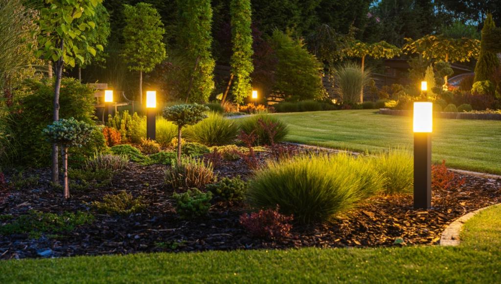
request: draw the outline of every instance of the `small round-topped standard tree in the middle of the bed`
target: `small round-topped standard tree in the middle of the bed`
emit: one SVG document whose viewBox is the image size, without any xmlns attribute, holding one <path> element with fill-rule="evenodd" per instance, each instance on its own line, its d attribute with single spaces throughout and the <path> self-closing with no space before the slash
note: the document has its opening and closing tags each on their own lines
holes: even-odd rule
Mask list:
<svg viewBox="0 0 501 284">
<path fill-rule="evenodd" d="M 184 126 L 196 124 L 207 118 L 209 108 L 203 105 L 175 105 L 163 110 L 163 117 L 177 125 L 177 162 L 181 160 L 181 130 Z"/>
</svg>

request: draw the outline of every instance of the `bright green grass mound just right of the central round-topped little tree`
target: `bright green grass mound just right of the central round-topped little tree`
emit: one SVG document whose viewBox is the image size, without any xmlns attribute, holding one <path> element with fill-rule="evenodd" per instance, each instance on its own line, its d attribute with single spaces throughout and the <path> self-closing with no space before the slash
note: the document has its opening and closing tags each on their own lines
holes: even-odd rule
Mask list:
<svg viewBox="0 0 501 284">
<path fill-rule="evenodd" d="M 186 139 L 209 146 L 230 144 L 237 135 L 238 122 L 214 112 L 184 130 Z"/>
</svg>

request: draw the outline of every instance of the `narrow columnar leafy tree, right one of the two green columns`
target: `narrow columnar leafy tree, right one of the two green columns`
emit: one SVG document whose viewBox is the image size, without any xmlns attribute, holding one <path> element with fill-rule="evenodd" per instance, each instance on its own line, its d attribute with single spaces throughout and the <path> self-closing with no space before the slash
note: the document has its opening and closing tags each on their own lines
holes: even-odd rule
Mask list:
<svg viewBox="0 0 501 284">
<path fill-rule="evenodd" d="M 233 86 L 233 95 L 237 104 L 249 96 L 252 87 L 250 86 L 250 74 L 254 71 L 252 56 L 253 38 L 250 29 L 251 14 L 250 0 L 231 0 L 231 36 L 233 44 L 233 55 L 231 56 L 231 77 L 228 87 L 231 85 L 233 76 L 236 76 Z M 226 100 L 228 90 L 224 92 L 222 103 Z"/>
</svg>

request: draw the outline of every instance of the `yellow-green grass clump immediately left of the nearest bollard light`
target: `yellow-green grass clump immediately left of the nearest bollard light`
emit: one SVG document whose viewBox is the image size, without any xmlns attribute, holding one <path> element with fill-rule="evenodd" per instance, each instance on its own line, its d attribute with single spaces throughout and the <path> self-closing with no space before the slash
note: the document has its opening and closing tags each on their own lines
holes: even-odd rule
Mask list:
<svg viewBox="0 0 501 284">
<path fill-rule="evenodd" d="M 406 194 L 413 190 L 414 164 L 412 153 L 392 149 L 372 159 L 374 168 L 382 174 L 384 193 Z"/>
</svg>

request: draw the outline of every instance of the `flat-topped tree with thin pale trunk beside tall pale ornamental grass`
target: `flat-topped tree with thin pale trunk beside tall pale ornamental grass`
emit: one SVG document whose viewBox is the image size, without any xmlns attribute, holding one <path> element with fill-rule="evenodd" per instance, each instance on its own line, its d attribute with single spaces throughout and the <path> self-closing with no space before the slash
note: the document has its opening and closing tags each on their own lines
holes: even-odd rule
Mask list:
<svg viewBox="0 0 501 284">
<path fill-rule="evenodd" d="M 346 53 L 351 57 L 358 57 L 362 59 L 362 73 L 365 69 L 365 57 L 369 56 L 374 59 L 379 58 L 393 58 L 400 54 L 400 49 L 394 45 L 390 45 L 385 41 L 379 43 L 364 43 L 355 41 L 347 50 Z M 360 103 L 364 102 L 364 89 L 360 91 Z"/>
</svg>

